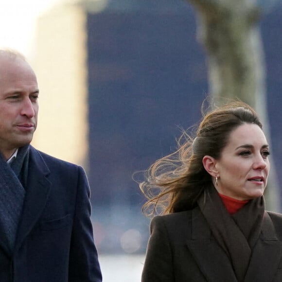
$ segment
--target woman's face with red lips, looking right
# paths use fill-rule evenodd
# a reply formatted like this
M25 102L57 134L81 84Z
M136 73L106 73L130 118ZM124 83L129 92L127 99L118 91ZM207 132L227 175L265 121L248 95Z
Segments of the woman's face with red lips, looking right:
M215 160L220 194L247 200L264 193L269 172L269 148L261 128L245 123L231 131L229 141Z

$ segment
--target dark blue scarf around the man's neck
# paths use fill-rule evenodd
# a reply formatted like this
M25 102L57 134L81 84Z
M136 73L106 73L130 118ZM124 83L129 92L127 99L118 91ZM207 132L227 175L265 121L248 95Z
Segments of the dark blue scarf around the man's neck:
M28 175L29 145L18 149L11 166L0 155L0 228L14 249Z

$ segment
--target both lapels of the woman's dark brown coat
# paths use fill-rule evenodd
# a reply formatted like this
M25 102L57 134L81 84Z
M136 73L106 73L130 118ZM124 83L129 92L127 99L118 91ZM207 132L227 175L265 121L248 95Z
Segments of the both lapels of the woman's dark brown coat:
M187 246L208 282L237 282L228 255L213 238L198 208L192 214L192 237L187 241ZM245 282L271 282L281 256L282 242L278 241L273 223L265 212L262 232L252 250Z

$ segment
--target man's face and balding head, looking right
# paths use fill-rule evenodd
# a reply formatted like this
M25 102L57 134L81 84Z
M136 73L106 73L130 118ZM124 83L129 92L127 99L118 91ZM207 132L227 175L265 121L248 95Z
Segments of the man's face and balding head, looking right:
M29 144L37 125L38 86L21 58L0 57L0 152L6 159Z

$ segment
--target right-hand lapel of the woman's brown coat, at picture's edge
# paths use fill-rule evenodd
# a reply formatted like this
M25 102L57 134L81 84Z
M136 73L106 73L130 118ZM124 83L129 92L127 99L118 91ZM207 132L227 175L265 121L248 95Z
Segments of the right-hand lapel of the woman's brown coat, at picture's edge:
M270 216L264 212L262 233L252 250L252 256L245 277L246 282L271 282L277 272L282 256L282 242L275 234Z

